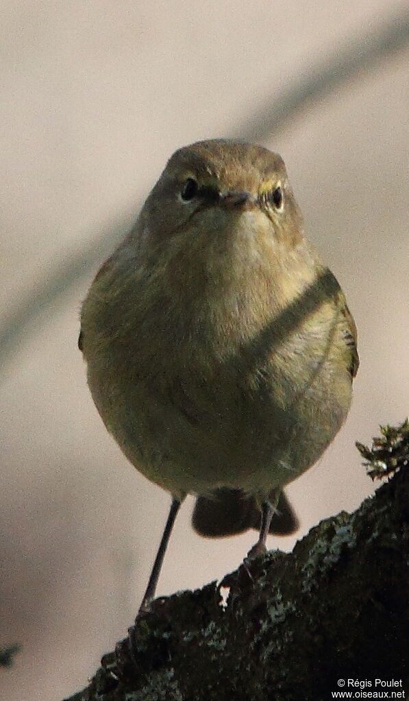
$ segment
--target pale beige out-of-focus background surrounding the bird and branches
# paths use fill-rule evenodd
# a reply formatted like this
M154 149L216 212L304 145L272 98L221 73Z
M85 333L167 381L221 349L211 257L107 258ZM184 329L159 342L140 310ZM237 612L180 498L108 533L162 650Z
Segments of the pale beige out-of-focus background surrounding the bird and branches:
M125 232L176 147L240 135L271 96L402 8L388 0L4 0L2 313L100 231L111 229L113 240L120 226ZM373 490L354 440L369 441L378 423L408 412L407 82L402 52L263 140L286 160L310 238L344 287L360 335L347 424L289 489L297 537ZM132 622L168 508L92 405L76 348L91 277L85 271L29 325L0 389L0 644L24 646L13 669L0 669L4 701L60 699L86 683ZM254 540L204 540L190 529L190 508L176 524L160 594L221 577Z

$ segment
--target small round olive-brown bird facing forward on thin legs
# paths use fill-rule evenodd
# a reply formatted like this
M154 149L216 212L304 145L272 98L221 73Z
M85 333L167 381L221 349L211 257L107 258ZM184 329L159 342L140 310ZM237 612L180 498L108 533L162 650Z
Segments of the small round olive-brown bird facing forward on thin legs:
M338 432L359 360L280 156L227 139L176 151L97 273L78 343L106 428L172 495L141 610L186 494L204 535L259 527L253 554L296 526L282 487Z

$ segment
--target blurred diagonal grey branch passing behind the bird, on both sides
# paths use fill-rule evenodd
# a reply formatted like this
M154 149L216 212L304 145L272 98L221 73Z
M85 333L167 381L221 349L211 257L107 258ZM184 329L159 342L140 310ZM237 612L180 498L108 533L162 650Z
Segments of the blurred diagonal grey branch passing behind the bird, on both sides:
M338 46L333 56L317 65L309 73L297 78L282 94L266 98L254 110L242 128L232 134L249 141L263 141L276 134L300 113L335 93L363 72L376 67L403 50L409 42L409 13L402 12L382 22L376 32L363 34L347 46ZM0 365L6 365L36 320L50 305L64 297L71 287L82 280L109 254L123 236L124 227L118 224L105 230L83 247L67 255L41 283L17 304L10 304L0 324Z

